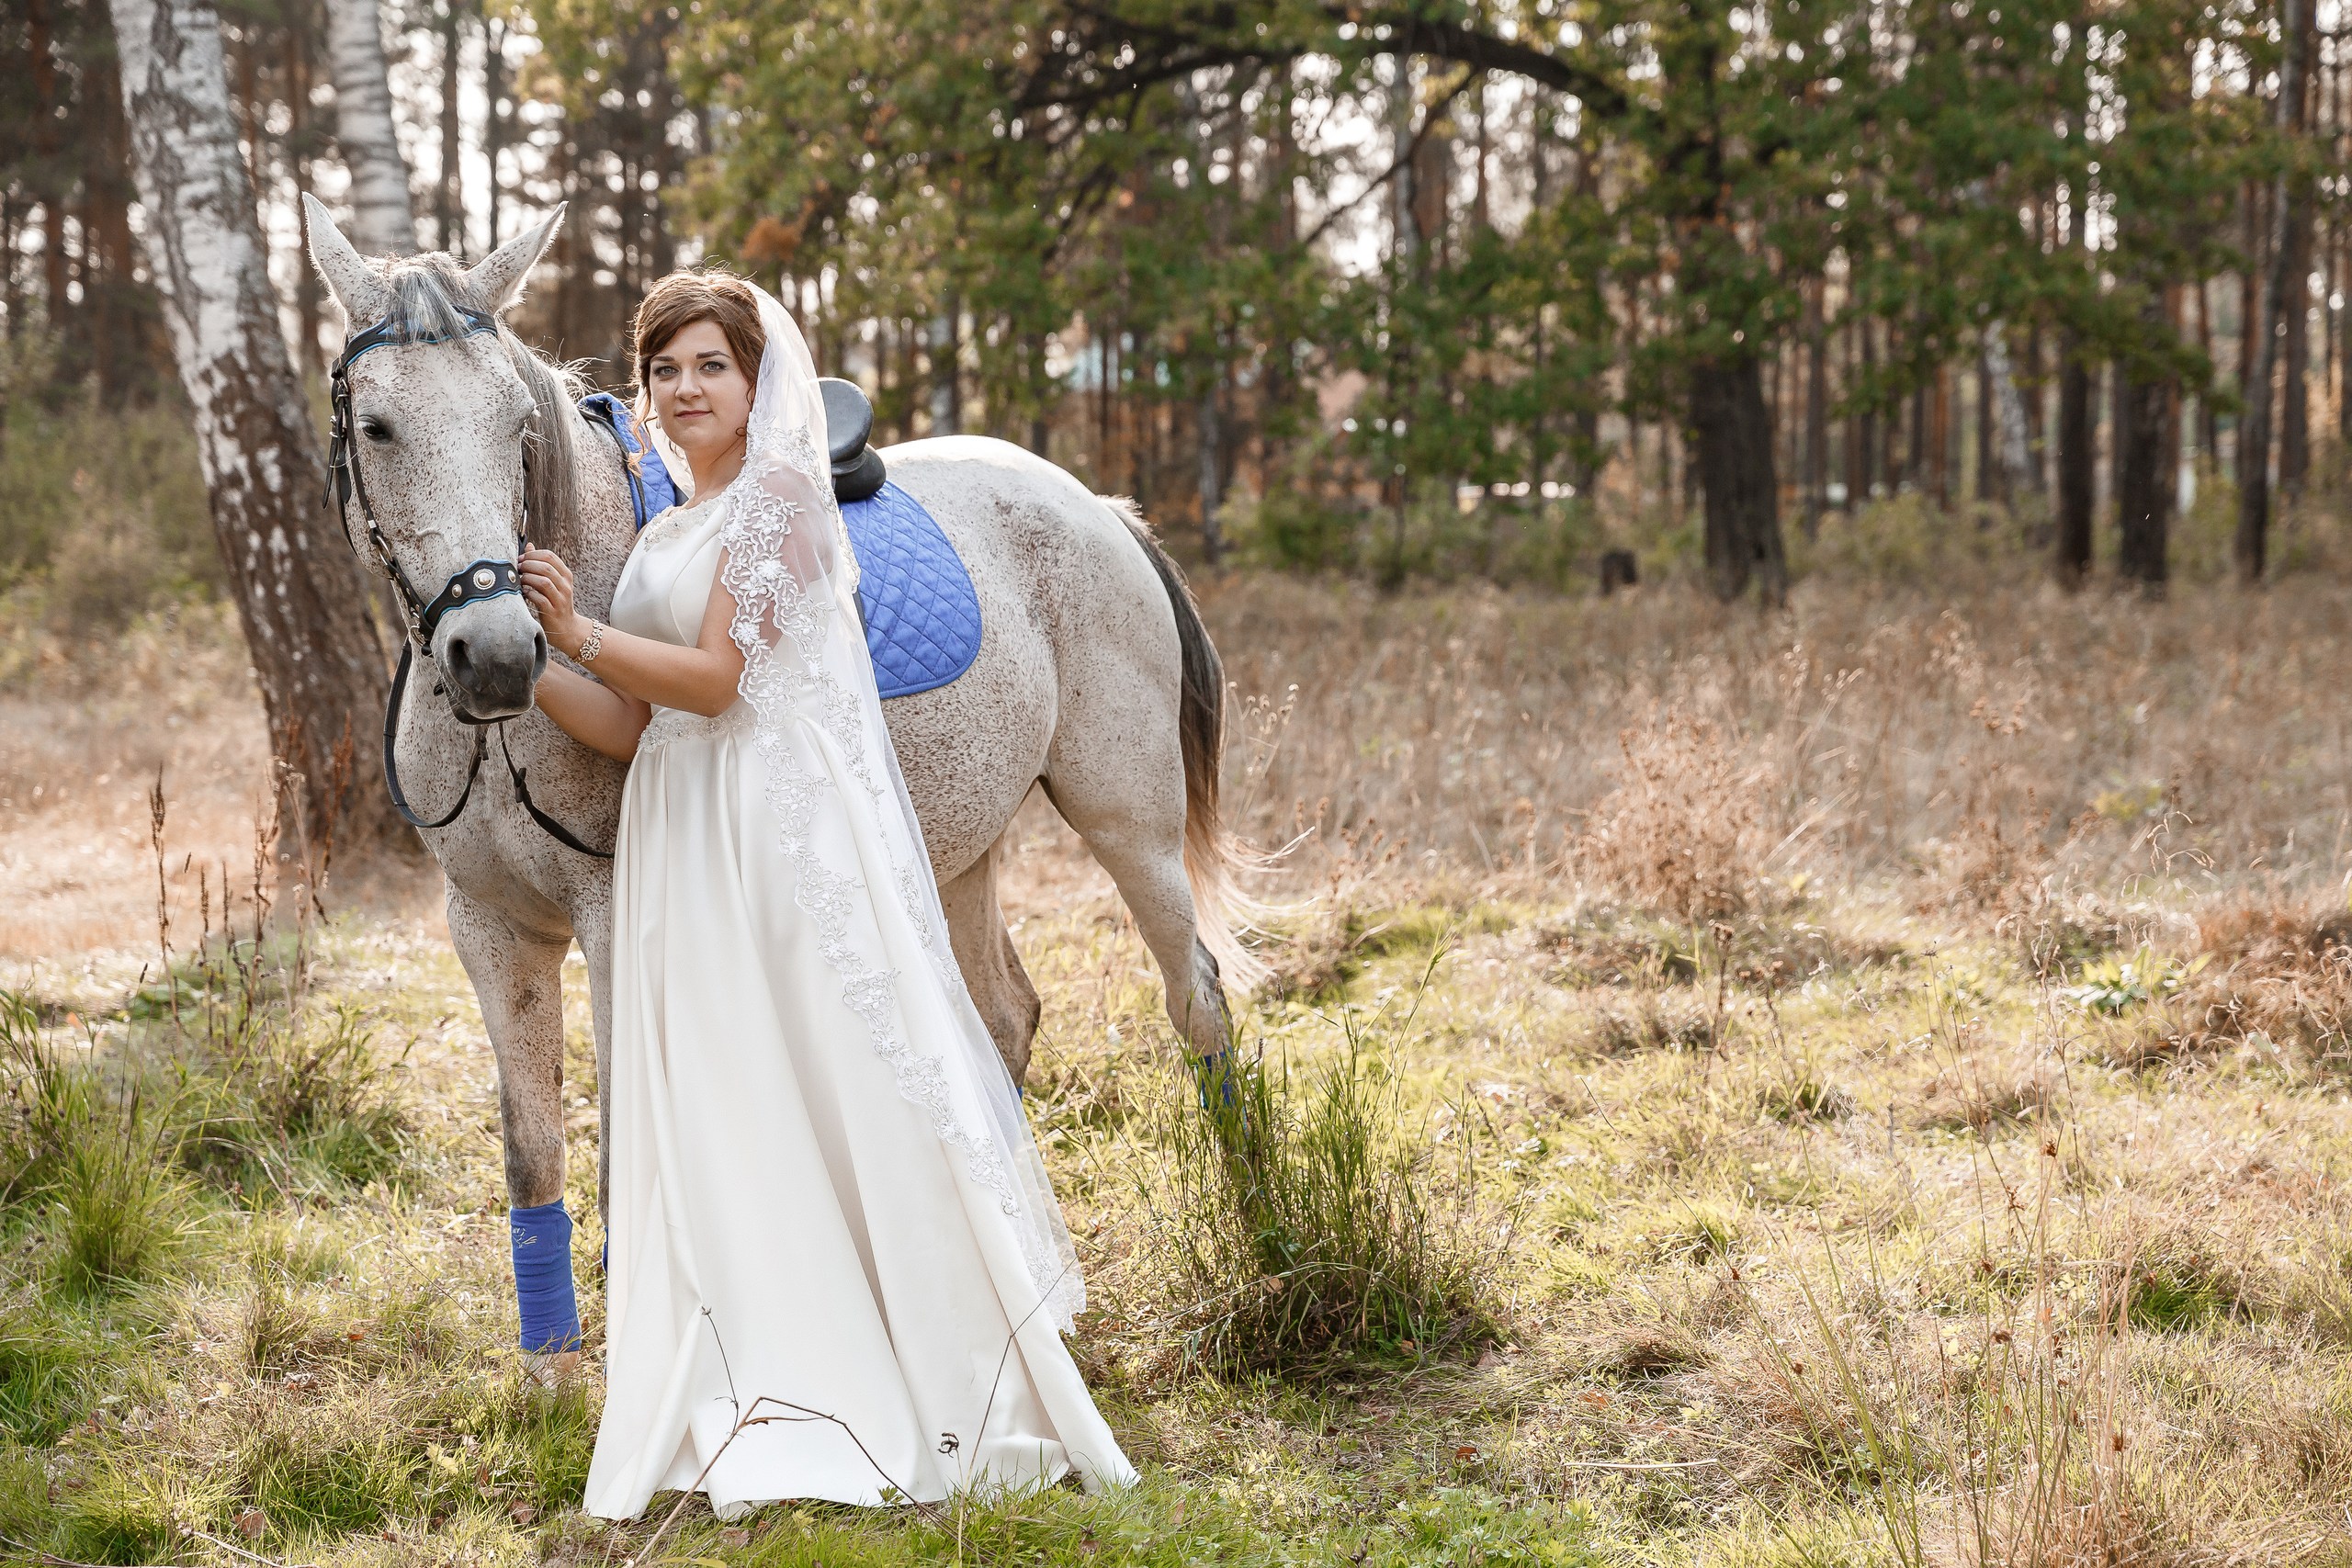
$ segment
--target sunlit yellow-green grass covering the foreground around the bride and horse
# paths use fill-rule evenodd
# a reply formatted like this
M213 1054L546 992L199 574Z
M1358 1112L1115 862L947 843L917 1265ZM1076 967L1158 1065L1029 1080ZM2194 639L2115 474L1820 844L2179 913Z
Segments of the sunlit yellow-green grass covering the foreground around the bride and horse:
M659 1559L2352 1561L2328 1074L2122 1072L2140 1020L2067 1004L2016 933L1877 905L1703 931L1691 973L1613 961L1663 931L1637 912L1416 891L1362 905L1371 931L1244 1009L1221 1117L1108 907L1023 931L1030 1114L1094 1298L1075 1352L1138 1488L689 1507ZM40 1027L61 1006L9 1013L0 1535L85 1563L628 1561L652 1521L579 1514L597 1380L550 1396L510 1349L496 1084L454 959L367 922L320 959L247 1051L169 1006L89 1041ZM71 1265L73 1161L127 1126L155 1192L82 1208L165 1239ZM586 1112L572 1171L593 1213ZM595 1246L583 1225L590 1347Z

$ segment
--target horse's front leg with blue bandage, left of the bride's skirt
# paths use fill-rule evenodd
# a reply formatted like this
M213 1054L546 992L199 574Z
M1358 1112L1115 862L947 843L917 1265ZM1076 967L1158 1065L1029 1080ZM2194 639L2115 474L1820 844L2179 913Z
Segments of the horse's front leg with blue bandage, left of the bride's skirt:
M508 1229L522 1349L541 1382L579 1366L572 1215L564 1211L564 952L449 886L449 940L499 1058Z

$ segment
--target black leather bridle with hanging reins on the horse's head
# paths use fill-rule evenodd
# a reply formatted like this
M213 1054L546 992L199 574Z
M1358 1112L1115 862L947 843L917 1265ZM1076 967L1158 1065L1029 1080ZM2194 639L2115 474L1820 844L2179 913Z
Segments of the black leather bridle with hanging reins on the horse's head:
M390 581L393 592L400 597L400 614L407 621L407 635L400 642L400 668L393 672L393 691L383 703L383 788L393 797L393 811L400 813L409 827L447 827L466 811L466 802L473 799L473 780L482 776L482 757L489 755L489 726L499 729L499 757L506 762L506 773L515 783L515 804L522 806L548 837L553 837L564 849L576 849L583 856L595 856L597 860L612 860L609 849L590 849L572 830L557 823L553 816L539 809L532 799L529 783L524 778L527 769L515 766L515 752L506 743L506 719L475 719L463 712L456 703L449 705L452 717L461 724L473 726L473 762L466 766L466 788L459 790L456 804L449 806L447 816L426 820L416 816L409 806L407 792L400 788L400 764L395 762L395 743L400 736L400 705L409 689L409 665L416 654L423 651L433 658L433 630L440 625L442 616L452 609L463 609L466 604L480 604L482 599L503 599L506 595L522 595L522 574L515 562L501 559L477 559L459 567L449 574L449 581L428 599L416 592L416 583L400 567L400 557L393 555L390 541L383 538L383 529L376 527L376 508L367 501L367 480L360 475L360 449L355 442L355 430L350 421L350 362L372 348L397 348L407 343L454 343L459 339L470 339L477 334L496 334L499 320L487 310L473 310L470 306L454 306L459 320L463 322L456 334L440 331L414 331L407 324L386 317L374 327L353 334L343 343L341 357L336 357L334 369L327 374L327 400L332 409L329 444L327 444L327 498L334 503L336 515L343 522L343 538L350 541L353 552L360 550L360 541L350 531L350 503L360 503L360 522L367 529L367 543L376 552L376 564L383 569L386 581ZM522 508L515 517L515 555L532 545L532 454L529 447L522 451ZM365 559L365 557L362 557ZM447 682L447 677L445 677ZM447 689L447 684L442 686Z

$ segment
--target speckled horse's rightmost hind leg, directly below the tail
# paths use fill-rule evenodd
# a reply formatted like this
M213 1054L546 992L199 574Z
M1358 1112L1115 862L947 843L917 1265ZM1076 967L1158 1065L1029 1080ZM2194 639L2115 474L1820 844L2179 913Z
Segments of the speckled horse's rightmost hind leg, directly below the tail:
M1216 959L1200 943L1200 912L1183 872L1183 757L1176 712L1148 724L1134 715L1063 717L1044 788L1120 886L1143 945L1167 983L1169 1023L1195 1060L1221 1058L1232 1044L1232 1016ZM1164 755L1162 755L1164 752Z

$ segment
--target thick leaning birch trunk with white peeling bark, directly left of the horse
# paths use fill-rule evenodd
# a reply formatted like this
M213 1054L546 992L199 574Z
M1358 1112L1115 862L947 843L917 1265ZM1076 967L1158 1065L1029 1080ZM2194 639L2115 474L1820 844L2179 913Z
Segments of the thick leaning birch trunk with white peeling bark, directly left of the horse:
M376 788L383 649L348 543L320 505L325 463L278 329L209 0L113 0L143 244L195 411L212 529L280 759L280 844L315 856L397 832ZM336 766L341 745L348 771ZM341 776L339 776L341 773Z

